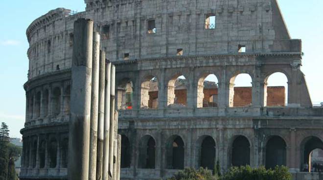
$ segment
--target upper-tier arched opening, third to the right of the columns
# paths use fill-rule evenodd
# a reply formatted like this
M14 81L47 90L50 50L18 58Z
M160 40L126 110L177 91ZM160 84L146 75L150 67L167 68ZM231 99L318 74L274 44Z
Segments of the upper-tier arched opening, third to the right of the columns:
M183 75L176 76L171 79L168 82L167 106L174 104L179 106L186 106L187 86L188 82Z

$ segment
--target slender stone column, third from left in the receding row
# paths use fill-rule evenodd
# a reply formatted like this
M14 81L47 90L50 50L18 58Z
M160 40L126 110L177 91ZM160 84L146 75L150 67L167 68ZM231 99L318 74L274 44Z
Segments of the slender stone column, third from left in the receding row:
M100 51L99 63L99 107L97 129L96 180L102 180L103 138L104 138L104 99L105 99L105 52Z

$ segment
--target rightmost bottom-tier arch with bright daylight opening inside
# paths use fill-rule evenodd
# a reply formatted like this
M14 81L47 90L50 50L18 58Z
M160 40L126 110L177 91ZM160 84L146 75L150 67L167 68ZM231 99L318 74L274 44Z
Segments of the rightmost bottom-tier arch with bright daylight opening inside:
M302 164L301 171L313 172L318 170L318 164L322 163L323 142L320 138L310 136L301 143ZM305 167L308 165L308 168Z

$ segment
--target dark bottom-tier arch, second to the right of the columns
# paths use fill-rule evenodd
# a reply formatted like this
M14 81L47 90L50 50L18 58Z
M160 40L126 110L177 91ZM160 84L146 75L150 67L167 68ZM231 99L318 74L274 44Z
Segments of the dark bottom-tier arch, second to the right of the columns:
M138 167L143 169L155 169L156 141L150 135L145 135L139 143Z

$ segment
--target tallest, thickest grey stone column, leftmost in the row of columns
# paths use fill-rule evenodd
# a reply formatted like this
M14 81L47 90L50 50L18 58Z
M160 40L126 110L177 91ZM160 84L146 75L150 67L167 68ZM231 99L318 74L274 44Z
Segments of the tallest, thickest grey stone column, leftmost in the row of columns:
M69 120L69 180L89 179L93 21L74 22Z

